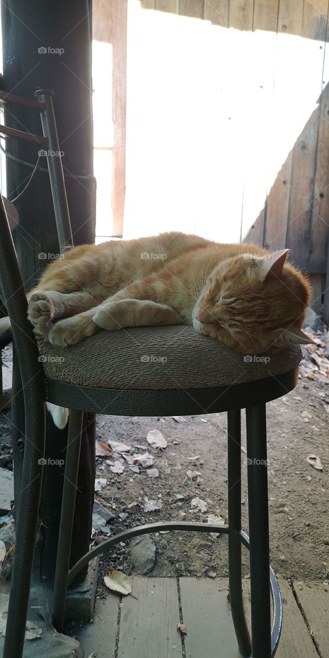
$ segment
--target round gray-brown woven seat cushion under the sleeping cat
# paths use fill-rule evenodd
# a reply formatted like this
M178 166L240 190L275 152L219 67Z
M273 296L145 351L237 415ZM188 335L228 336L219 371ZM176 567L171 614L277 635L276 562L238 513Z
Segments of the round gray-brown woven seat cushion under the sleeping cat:
M282 374L301 360L297 345L245 360L188 326L100 331L71 347L39 343L39 351L47 377L110 389L229 386Z

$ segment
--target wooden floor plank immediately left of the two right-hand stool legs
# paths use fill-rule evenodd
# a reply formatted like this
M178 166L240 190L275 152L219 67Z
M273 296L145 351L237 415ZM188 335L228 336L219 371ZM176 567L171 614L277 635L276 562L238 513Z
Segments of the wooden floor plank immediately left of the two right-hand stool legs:
M189 658L241 658L227 599L227 578L180 578L183 622Z

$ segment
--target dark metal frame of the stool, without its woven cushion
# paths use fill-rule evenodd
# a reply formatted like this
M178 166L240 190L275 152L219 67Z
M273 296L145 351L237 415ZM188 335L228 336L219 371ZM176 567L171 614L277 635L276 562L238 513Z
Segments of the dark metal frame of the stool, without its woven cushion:
M0 97L3 97L3 95ZM17 97L11 97L15 102ZM39 101L28 101L41 112L43 141L49 151L58 152L59 143L53 114L51 92L39 91ZM20 99L16 102L22 102ZM31 103L33 105L31 105ZM41 110L40 110L41 103ZM5 132L21 137L6 128ZM10 132L9 132L10 131ZM13 134L13 132L15 134ZM32 136L36 137L36 136ZM72 245L72 232L64 187L61 158L47 157L51 191L61 249ZM0 195L1 196L1 195ZM16 549L9 599L9 612L3 658L21 658L28 611L30 578L38 525L42 463L45 446L45 401L69 407L68 444L53 592L53 625L63 632L66 589L80 570L96 555L118 542L149 532L180 530L228 534L228 572L230 604L241 655L249 658L274 656L282 626L282 599L278 582L269 563L268 489L266 457L267 401L292 390L298 381L297 368L263 380L233 386L178 390L110 390L55 382L45 378L38 361L38 345L32 325L26 318L27 301L18 267L3 199L0 198L0 282L2 297L11 318L13 340L22 376L25 402L25 452L22 474L24 505L16 519ZM111 335L110 340L115 340ZM120 393L120 395L118 395ZM200 407L207 413L228 414L228 524L159 522L120 532L84 555L69 569L76 482L80 456L82 415L99 413L102 403L113 403L113 415L197 415ZM241 529L241 409L246 410L247 480L250 539ZM241 545L249 548L251 588L251 639L242 603ZM202 584L201 584L202 586ZM271 625L270 597L273 619ZM252 649L251 649L252 647ZM209 658L216 658L209 657Z

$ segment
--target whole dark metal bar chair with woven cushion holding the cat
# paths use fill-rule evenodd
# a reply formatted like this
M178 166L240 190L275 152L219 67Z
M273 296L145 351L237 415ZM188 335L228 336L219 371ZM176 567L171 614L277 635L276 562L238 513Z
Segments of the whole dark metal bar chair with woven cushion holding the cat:
M49 104L51 97L46 98L43 93L41 102ZM55 122L49 124L49 114L47 116L48 118L45 114L43 116L43 129L48 135L46 139L49 139L49 135L53 134ZM59 151L57 144L51 148L53 151ZM50 174L52 167L61 168L60 159L55 160L56 163L49 161ZM57 181L57 186L52 185L52 190L55 210L57 208L60 245L63 248L70 244L72 234L65 204L63 172L57 171L55 178L57 176L61 181L60 186ZM37 345L32 325L26 318L26 296L2 199L0 211L0 284L3 301L11 318L26 408L26 447L22 476L22 490L26 493L24 506L21 505L19 518L16 519L16 550L3 658L20 658L24 644L43 468L40 457L44 454L45 443L45 401L69 407L71 410L53 592L55 628L63 631L66 588L82 567L99 553L118 542L159 530L218 532L228 534L230 603L240 652L243 656L252 658L270 658L276 652L280 639L282 601L278 582L269 563L265 405L267 401L285 395L296 386L301 359L299 347L290 347L278 355L271 355L270 367L262 361L253 363L250 370L246 370L243 355L238 355L205 336L195 334L191 328L184 328L184 340L179 342L176 339L183 336L180 333L182 327L161 327L111 334L102 331L70 348L60 348L50 343ZM132 340L139 345L138 348L134 346L137 368L134 388L128 381L126 386L124 385L125 367L128 367L132 356ZM150 353L155 344L162 345L162 348L172 353L175 358L168 367L168 377L152 384L145 370L138 368L141 368L141 355ZM104 357L104 350L107 351L107 358ZM40 355L63 355L64 367L58 369L59 359L45 359L41 363L38 360ZM86 361L91 361L93 365L88 370L88 376L82 367L82 363ZM105 368L107 361L112 363L109 373ZM213 372L211 382L209 370ZM100 372L100 378L97 380L91 371ZM191 384L188 376L190 371L195 374L196 386ZM116 377L113 372L120 373L120 376ZM140 526L105 540L69 569L82 413L109 413L109 407L113 415L139 416L197 415L226 411L228 525L161 522ZM247 418L250 538L241 530L241 409L246 409ZM250 551L251 640L243 613L241 544ZM273 603L272 622L270 595Z

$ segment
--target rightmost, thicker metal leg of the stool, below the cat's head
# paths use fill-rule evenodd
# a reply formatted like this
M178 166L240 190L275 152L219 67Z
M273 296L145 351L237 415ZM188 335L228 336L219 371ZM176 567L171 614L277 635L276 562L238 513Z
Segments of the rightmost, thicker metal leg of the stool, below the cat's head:
M265 404L249 407L247 417L247 472L253 658L270 658L270 555Z

